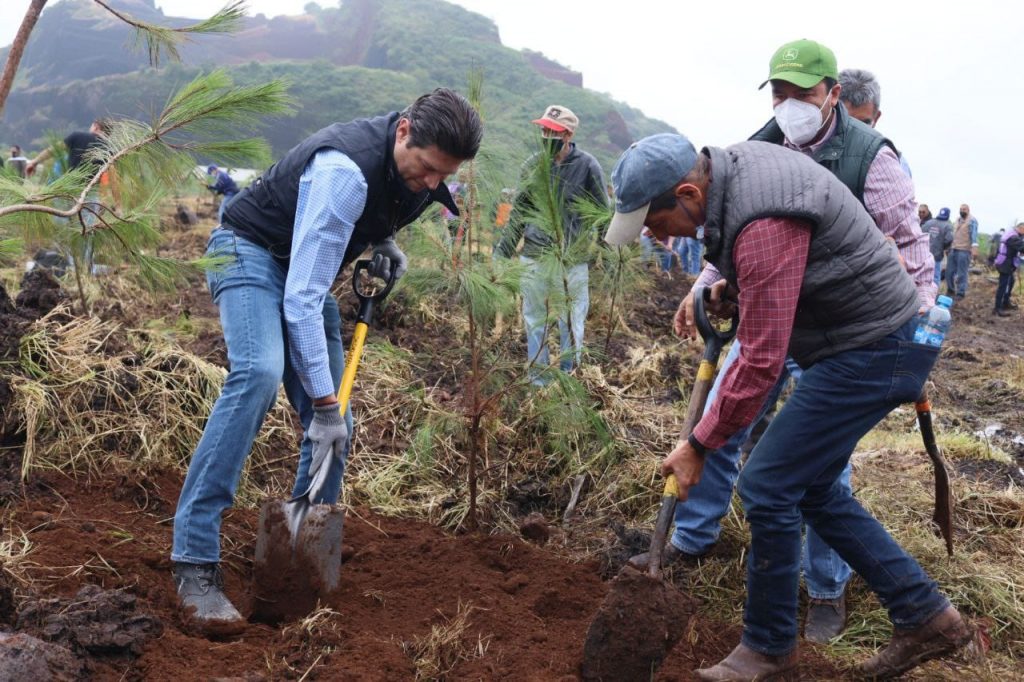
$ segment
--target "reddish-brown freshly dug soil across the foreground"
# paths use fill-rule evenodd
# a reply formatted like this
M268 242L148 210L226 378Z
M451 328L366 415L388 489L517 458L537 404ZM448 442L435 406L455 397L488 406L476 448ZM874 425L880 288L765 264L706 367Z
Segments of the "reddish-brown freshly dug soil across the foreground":
M153 634L156 620L163 624L162 635L133 640L134 648L131 642L104 647L93 645L102 640L62 635L58 641L78 647L96 680L279 680L307 671L307 680L412 680L412 652L432 632L451 628L460 609L468 612L465 629L440 647L451 654L449 679L577 679L587 630L608 593L596 561L569 563L517 537L453 536L356 508L344 531L353 555L342 565L337 595L324 604L333 613L317 611L279 627L254 623L237 638L212 641L190 634L176 608L168 554L169 510L181 485L177 474L125 478L111 472L91 481L56 475L44 481L47 494L8 508L12 523L34 528L27 570L32 590L45 593L23 597L18 613L34 599L55 606L75 603L75 595L121 595L102 598L122 605L96 620L101 632ZM138 486L147 491L145 499L118 494ZM50 515L45 523L39 522L41 511ZM240 607L251 586L256 528L256 510L224 516L226 591ZM85 586L98 587L80 593ZM100 588L115 592L91 592ZM117 601L125 596L134 597L132 608ZM46 601L56 598L63 600ZM82 615L91 607L68 612L71 620L61 622L68 633L81 632L75 628L89 623ZM54 609L45 612L44 623ZM154 621L140 630L143 615ZM110 630L114 624L120 625ZM693 679L692 670L724 657L738 637L737 629L695 614L654 679ZM803 670L807 679L841 677L813 649L805 650Z

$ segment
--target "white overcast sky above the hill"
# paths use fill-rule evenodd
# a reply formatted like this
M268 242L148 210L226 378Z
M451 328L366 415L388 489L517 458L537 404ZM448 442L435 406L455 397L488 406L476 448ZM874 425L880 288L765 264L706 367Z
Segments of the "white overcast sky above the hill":
M274 15L301 13L307 1L248 4L251 13ZM0 45L10 43L28 4L0 2ZM337 6L334 0L319 4ZM1024 219L1024 40L1016 3L457 4L493 18L506 45L544 52L583 72L588 88L666 121L698 146L729 144L757 130L771 116L771 96L757 86L767 77L772 52L798 38L817 40L836 52L840 69L878 76L878 127L909 162L919 201L933 213L948 206L953 215L968 203L983 232ZM217 3L157 5L169 15L200 17Z

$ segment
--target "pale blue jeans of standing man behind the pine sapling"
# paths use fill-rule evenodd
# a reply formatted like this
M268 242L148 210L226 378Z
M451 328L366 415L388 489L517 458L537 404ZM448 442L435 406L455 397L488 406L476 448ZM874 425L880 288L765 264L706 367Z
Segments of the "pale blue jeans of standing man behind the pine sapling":
M583 334L590 309L590 267L583 263L568 269L568 300L560 273L545 273L532 258L519 256L526 266L522 274L522 321L526 328L526 361L534 383L544 383L543 373L551 363L548 354L548 331L558 321L562 372L572 370L583 355ZM569 334L571 317L571 336ZM573 350L570 350L573 349Z

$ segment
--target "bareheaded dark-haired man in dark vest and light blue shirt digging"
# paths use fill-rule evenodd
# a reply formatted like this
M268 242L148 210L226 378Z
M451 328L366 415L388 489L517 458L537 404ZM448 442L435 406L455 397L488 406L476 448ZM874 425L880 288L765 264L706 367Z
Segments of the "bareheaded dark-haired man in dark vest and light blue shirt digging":
M337 400L344 348L330 287L370 246L381 257L375 273L393 266L400 276L407 260L395 232L432 202L458 213L443 180L476 156L481 135L469 102L439 88L401 113L312 134L227 206L207 254L233 258L208 272L207 284L230 371L188 466L171 553L179 603L196 630L245 627L223 593L220 515L282 382L305 430L294 495L337 501L352 418Z

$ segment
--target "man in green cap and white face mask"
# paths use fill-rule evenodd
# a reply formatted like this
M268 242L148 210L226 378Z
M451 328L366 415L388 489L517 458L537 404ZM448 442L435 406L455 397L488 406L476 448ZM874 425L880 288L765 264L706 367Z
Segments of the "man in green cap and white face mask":
M842 87L838 81L836 55L826 46L798 40L779 47L769 62L768 79L761 84L762 88L771 85L775 116L751 139L801 152L831 171L860 201L882 233L895 242L913 281L920 309L927 310L935 304L935 261L929 238L921 231L913 181L901 170L895 145L852 118L840 103ZM709 264L695 286L712 286L721 280L719 271ZM680 303L675 328L680 336L696 338L691 295ZM718 394L727 370L741 354L745 357L742 344L734 343L709 404ZM707 554L718 541L721 519L729 510L739 475L740 450L765 413L777 402L791 373L799 378L799 370L787 361L761 413L714 457L709 456L701 482L690 491L689 500L676 506L676 529L666 548L666 561L692 561ZM850 488L850 473L847 466L839 479L846 489ZM645 560L645 555L639 555L631 562L643 565ZM811 528L806 535L803 569L810 597L804 637L826 642L845 628L844 595L851 570Z

